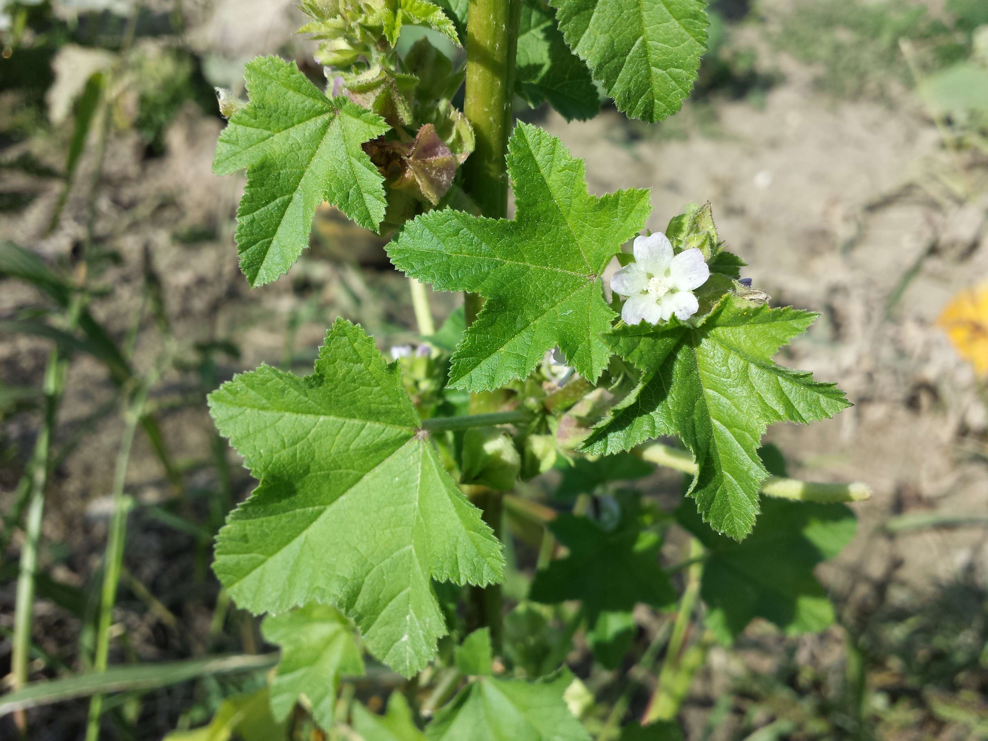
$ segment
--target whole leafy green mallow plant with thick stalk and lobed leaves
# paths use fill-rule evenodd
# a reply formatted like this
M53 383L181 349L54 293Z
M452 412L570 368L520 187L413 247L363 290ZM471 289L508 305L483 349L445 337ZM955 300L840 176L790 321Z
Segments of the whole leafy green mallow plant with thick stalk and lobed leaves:
M285 275L329 202L390 235L420 338L386 359L340 318L311 375L262 366L209 397L258 479L213 569L282 647L270 711L338 738L421 738L424 723L443 740L666 738L709 645L755 617L788 633L833 620L813 567L854 534L841 502L861 490L786 479L760 445L772 423L849 402L773 361L815 315L740 279L712 206L646 235L650 192L589 194L584 163L516 124L513 101L567 120L596 116L602 94L631 118L675 114L705 48L704 2L301 7L325 80L259 57L249 100L221 96L214 170L247 171L241 268L253 287ZM431 32L399 45L413 26ZM426 284L463 293L439 330ZM675 512L635 487L655 463L686 474ZM671 528L690 550L663 565ZM607 720L565 658L582 631L604 667L630 655L652 671L637 605L676 627L643 715ZM686 629L694 619L702 630ZM405 678L384 716L339 694L368 662Z

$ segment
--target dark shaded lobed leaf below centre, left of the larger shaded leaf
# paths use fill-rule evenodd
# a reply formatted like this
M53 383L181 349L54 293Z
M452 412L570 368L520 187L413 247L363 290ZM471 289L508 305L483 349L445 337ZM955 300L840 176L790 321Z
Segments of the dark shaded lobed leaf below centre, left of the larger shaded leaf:
M609 532L589 518L561 514L549 528L570 552L535 572L529 599L581 600L592 628L601 613L630 611L639 602L658 608L676 600L659 566L659 536L639 530L633 518L624 517Z

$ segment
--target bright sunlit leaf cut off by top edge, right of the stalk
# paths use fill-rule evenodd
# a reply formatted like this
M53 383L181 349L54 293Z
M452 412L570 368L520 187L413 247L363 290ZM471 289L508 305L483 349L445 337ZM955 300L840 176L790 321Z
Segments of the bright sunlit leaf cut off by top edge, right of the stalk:
M672 116L706 49L705 0L549 0L569 47L632 119Z

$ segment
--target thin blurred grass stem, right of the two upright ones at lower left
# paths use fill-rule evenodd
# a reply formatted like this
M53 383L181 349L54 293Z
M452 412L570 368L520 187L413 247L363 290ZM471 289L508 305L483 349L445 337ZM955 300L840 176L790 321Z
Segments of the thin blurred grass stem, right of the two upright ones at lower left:
M120 584L124 566L124 542L126 540L126 518L130 509L130 500L124 496L126 471L130 462L130 449L144 414L144 403L147 392L157 380L161 370L166 365L164 357L150 371L147 378L137 387L130 403L124 412L124 434L121 436L121 447L117 453L117 468L114 471L114 514L110 521L110 533L107 538L107 549L103 557L103 590L100 597L100 621L97 628L96 656L93 661L94 672L105 672L110 655L110 623L113 618L114 606L117 604L117 587ZM94 695L89 703L89 720L86 725L86 741L96 741L100 735L100 715L103 712L103 696Z

